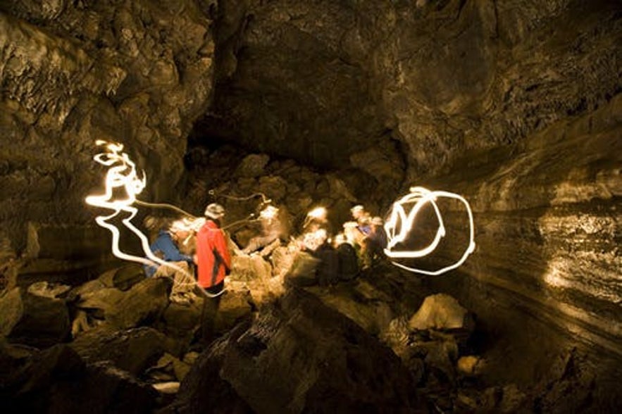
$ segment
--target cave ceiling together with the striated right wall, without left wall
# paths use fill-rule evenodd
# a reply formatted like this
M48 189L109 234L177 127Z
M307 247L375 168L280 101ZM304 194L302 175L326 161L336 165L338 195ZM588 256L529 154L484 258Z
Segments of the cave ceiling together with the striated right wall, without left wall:
M550 356L544 342L622 356L621 4L222 4L206 132L466 196L478 247L430 286L492 332L533 318L541 334L514 335L533 341L525 356ZM561 337L539 349L547 330Z

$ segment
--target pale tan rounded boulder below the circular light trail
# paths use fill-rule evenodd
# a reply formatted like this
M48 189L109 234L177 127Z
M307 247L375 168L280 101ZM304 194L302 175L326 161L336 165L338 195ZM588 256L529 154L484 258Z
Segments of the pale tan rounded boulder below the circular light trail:
M424 299L421 308L409 320L409 327L412 330L459 329L464 327L467 315L468 311L452 296L435 294Z

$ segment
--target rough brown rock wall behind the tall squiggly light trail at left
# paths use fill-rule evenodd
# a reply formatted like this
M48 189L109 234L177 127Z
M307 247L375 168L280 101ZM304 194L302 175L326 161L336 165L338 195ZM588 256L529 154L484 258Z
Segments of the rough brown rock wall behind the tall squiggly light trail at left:
M210 24L189 0L3 2L0 223L13 249L26 222L102 213L83 201L103 192L96 139L126 145L145 201L178 197L187 133L212 90Z

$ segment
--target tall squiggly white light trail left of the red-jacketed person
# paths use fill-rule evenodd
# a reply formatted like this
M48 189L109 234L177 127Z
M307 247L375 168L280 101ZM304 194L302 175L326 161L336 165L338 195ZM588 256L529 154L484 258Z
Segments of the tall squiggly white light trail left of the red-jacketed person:
M133 261L149 266L163 265L177 270L178 272L182 272L185 276L189 277L190 280L194 280L194 275L189 274L189 272L185 269L180 268L174 263L163 261L161 258L154 255L149 248L149 239L147 236L145 236L137 227L135 227L135 225L132 224L132 218L135 218L138 213L138 209L132 206L132 204L137 202L137 194L140 194L140 192L142 192L144 187L147 185L147 179L144 176L144 171L141 174L142 177L139 177L135 163L130 160L127 153L123 152L123 144L106 142L101 139L98 139L95 144L98 146L104 146L106 149L104 153L98 153L93 157L94 161L108 167L108 171L106 172L104 194L89 195L86 197L85 201L90 206L106 208L112 211L110 215L99 215L95 218L95 222L97 222L98 225L110 230L112 234L112 253L116 257L126 261ZM116 192L114 191L115 189L117 189ZM125 192L125 198L118 198L118 194L116 193L121 191ZM128 230L138 237L142 251L147 258L124 253L119 248L120 231L116 225L109 222L109 220L112 220L122 214L127 214L127 217L121 219L121 222L123 222L123 225L125 225ZM186 286L189 284L196 285L197 282L194 281L184 283L182 285ZM221 291L219 294L209 294L204 291L204 289L200 290L208 297L219 296L224 291Z

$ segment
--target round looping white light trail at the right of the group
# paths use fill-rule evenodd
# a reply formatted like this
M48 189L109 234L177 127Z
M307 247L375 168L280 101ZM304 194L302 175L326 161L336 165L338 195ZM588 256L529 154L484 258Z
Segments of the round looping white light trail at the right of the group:
M464 197L459 196L458 194L443 191L430 191L423 187L411 187L410 191L410 194L406 194L406 196L403 196L401 199L393 203L390 218L389 220L387 220L387 222L385 222L385 232L387 232L388 239L387 248L385 249L385 255L389 258L421 258L423 256L428 256L428 254L435 251L438 244L440 244L440 240L446 234L442 215L436 201L438 198L442 197L456 199L461 201L461 203L463 203L466 207L469 222L469 242L461 258L456 261L456 263L453 263L452 265L435 271L411 268L409 266L402 265L402 263L397 263L394 261L392 263L399 268L410 270L411 272L422 273L423 275L440 275L449 270L458 268L462 263L464 263L464 261L466 261L468 255L473 253L473 251L475 250L475 242L473 240L475 236L473 213L471 211L471 206L469 206L468 204L468 201L466 201ZM434 208L434 212L438 220L438 228L433 241L430 242L428 246L423 247L423 249L410 251L394 250L394 247L397 246L397 244L403 243L406 241L406 239L408 239L409 234L413 229L415 218L421 211L421 208L423 208L428 203L430 203ZM411 204L414 204L414 206L411 208L409 213L406 214L404 206L409 206Z

